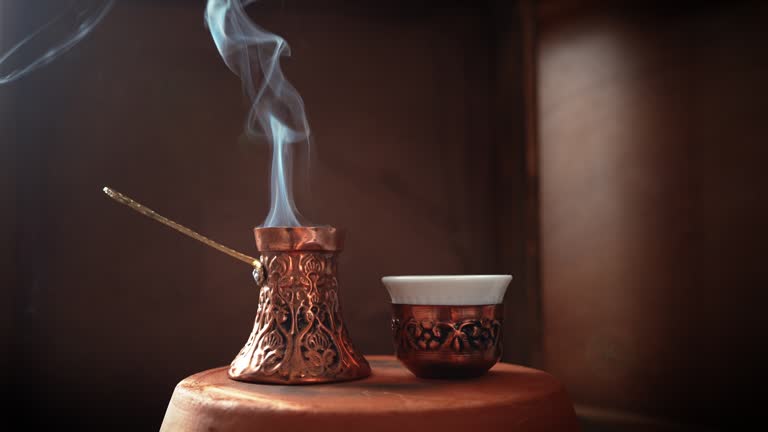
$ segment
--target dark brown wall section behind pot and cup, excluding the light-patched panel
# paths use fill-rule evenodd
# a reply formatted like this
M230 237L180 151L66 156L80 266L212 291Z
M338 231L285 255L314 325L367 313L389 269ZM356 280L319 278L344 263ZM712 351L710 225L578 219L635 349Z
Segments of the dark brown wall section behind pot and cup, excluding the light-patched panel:
M298 207L348 230L357 347L392 352L381 276L512 273L505 355L525 361L514 5L272 3L252 15L291 44L284 70L314 132ZM247 266L101 193L255 253L270 150L240 137L247 103L203 5L118 2L72 51L0 87L2 369L28 419L156 429L176 382L229 363L251 330ZM3 46L46 11L3 2Z

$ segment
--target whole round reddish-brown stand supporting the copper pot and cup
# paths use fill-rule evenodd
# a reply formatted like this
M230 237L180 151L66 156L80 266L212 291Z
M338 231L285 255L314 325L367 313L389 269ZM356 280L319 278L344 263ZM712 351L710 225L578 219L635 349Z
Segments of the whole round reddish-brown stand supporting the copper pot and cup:
M551 375L507 363L465 380L416 378L392 356L366 357L366 379L302 386L232 381L227 368L181 381L165 412L170 431L577 431Z

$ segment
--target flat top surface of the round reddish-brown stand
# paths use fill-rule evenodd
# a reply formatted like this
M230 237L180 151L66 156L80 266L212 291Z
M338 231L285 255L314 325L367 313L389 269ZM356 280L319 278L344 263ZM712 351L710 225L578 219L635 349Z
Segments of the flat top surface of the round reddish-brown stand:
M564 393L551 375L507 363L464 380L421 379L393 356L367 356L370 377L313 385L251 384L233 381L227 368L211 369L179 383L176 392L238 409L272 412L385 414L451 411L490 406L525 406Z

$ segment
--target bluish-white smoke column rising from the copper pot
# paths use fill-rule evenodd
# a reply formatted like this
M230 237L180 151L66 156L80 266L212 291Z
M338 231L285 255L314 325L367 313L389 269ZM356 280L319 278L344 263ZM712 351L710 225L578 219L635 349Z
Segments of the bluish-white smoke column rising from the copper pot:
M205 22L221 57L251 99L246 132L272 143L272 198L262 226L300 226L290 170L293 145L309 140L309 124L301 96L280 69L280 57L290 55L288 44L245 13L255 1L208 0Z

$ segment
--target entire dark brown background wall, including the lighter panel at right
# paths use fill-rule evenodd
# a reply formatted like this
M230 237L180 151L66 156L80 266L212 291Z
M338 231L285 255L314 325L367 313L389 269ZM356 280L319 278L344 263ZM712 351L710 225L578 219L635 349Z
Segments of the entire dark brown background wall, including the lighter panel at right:
M1 2L7 47L62 2ZM157 429L252 326L270 151L204 2L125 0L0 87L4 382L28 420ZM519 11L519 12L518 12ZM760 2L266 2L314 143L307 218L348 230L345 321L389 353L387 274L512 273L505 360L586 430L727 429L760 388L768 75Z

